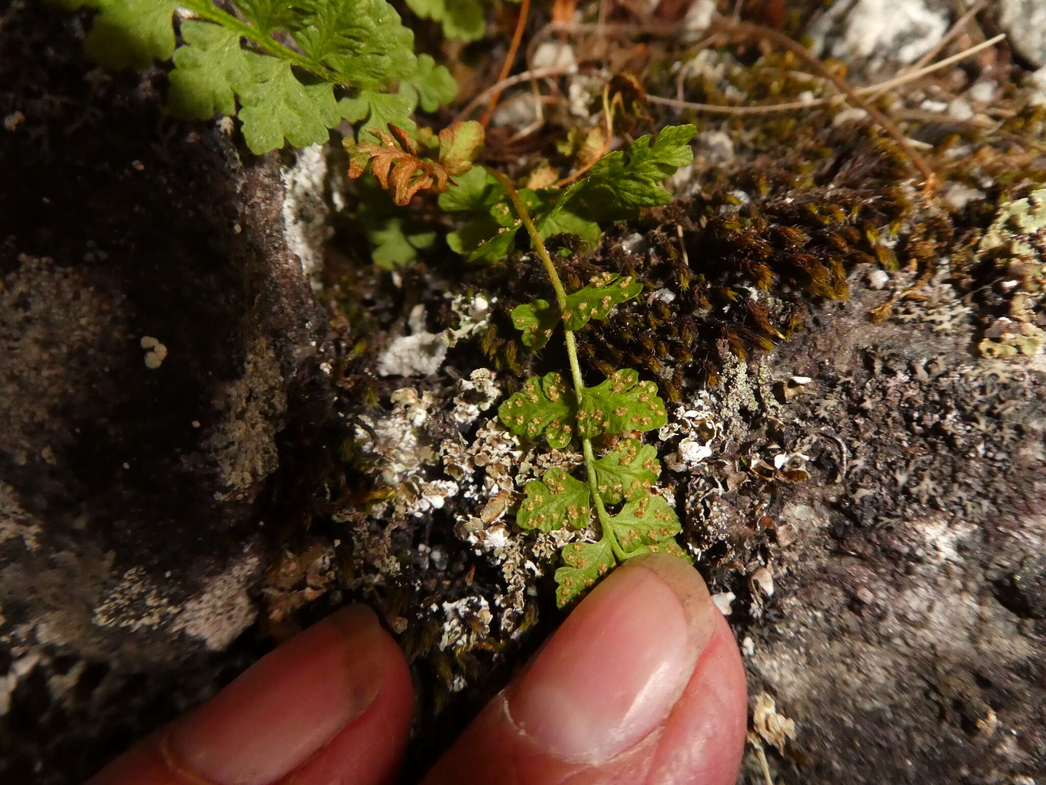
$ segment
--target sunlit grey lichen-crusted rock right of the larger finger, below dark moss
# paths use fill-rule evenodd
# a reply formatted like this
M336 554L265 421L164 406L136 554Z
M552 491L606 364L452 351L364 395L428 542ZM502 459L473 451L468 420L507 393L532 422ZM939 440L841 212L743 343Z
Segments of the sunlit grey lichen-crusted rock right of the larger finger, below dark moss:
M869 300L775 362L814 379L776 416L811 476L768 521L773 598L742 597L749 691L795 721L775 781L1034 781L1046 373L972 360L969 321L869 326Z

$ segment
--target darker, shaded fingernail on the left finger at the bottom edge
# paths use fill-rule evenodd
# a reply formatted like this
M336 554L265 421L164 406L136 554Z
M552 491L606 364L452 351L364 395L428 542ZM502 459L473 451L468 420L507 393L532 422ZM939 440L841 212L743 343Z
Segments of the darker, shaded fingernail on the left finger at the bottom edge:
M373 702L384 634L364 606L313 625L176 722L164 743L168 762L215 785L285 777Z

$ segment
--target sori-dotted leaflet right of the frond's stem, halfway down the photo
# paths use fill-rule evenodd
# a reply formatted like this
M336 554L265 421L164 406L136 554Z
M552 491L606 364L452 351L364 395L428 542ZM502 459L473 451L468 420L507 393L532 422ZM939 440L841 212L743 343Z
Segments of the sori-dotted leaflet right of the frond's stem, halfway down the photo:
M593 439L600 433L655 430L666 422L657 385L639 382L639 374L628 368L585 389L577 410L577 434Z

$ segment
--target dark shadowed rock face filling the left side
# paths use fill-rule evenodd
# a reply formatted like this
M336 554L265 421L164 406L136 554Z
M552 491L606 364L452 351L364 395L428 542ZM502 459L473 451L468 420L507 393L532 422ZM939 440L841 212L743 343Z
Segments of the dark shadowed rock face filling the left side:
M238 670L277 434L326 405L278 159L164 119L76 24L0 17L4 782L78 781Z

